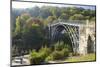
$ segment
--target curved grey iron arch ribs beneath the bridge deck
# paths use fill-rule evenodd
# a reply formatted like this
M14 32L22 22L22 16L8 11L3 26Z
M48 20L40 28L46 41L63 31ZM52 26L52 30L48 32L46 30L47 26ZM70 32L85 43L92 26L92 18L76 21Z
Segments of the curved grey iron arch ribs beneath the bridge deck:
M71 43L72 43L72 48L73 48L73 51L76 53L78 52L78 46L79 46L79 35L76 32L76 29L78 31L78 27L77 26L70 26L70 25L66 25L66 24L56 24L54 26L51 26L51 38L52 40L55 38L55 35L57 34L57 32L62 32L63 30L65 32L67 32L67 34L69 35L69 38L71 40Z

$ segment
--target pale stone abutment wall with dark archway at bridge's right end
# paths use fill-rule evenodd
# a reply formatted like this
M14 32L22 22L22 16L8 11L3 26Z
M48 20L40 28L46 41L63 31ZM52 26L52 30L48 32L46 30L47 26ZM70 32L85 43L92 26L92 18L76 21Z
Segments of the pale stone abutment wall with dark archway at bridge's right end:
M88 24L88 22L79 28L79 54L82 55L95 52L95 24Z

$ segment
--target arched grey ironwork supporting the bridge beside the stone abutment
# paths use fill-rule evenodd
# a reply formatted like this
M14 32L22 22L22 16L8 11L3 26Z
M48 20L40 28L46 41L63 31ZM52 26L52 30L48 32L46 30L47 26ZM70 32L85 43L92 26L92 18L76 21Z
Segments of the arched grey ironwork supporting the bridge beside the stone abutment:
M72 43L72 48L74 52L78 51L79 47L79 25L73 25L73 24L67 24L67 23L55 23L51 24L49 27L49 33L50 33L50 38L51 42L55 38L55 35L57 34L57 28L59 26L62 26L64 30L68 33L71 43Z

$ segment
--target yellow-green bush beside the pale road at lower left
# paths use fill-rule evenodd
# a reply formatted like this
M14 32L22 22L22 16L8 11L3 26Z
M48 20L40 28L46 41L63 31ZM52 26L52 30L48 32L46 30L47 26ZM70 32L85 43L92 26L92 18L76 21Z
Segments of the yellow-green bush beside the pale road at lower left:
M30 52L30 64L41 64L41 62L45 61L45 58L49 56L51 50L49 48L42 47L38 52L32 50Z

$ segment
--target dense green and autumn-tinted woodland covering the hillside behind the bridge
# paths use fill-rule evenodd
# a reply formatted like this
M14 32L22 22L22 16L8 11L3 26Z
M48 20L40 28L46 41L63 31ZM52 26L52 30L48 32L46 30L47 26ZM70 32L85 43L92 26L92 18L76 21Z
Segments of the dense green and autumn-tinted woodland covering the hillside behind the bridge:
M42 45L49 45L50 41L48 37L48 24L57 19L95 20L95 10L78 7L54 6L35 6L28 9L12 9L12 44L16 47L16 52L13 53L17 54L20 51L28 52L32 49L39 50ZM68 50L72 50L70 48L71 43L68 43L68 37L65 37L66 38L62 39L64 43L56 43L57 45L55 44L54 50L62 51L64 47L66 47ZM68 46L67 44L69 44L70 46ZM13 51L14 48L12 48ZM48 52L46 48L43 49L43 53L41 53L41 55L45 54L46 51Z

